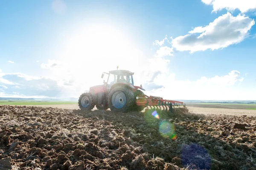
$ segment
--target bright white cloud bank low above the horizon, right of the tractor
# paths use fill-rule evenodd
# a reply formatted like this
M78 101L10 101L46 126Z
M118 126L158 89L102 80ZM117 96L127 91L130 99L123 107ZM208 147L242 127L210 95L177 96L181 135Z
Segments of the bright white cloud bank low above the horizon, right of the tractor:
M256 100L256 89L243 88L243 79L236 70L195 81L179 81L173 75L166 78L163 88L153 89L147 94L169 100Z

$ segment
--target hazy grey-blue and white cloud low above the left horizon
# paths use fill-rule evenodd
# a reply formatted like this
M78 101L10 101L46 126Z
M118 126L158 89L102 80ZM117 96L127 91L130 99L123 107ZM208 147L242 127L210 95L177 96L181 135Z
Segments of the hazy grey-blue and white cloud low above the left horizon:
M18 85L18 86L17 86ZM57 80L45 77L33 77L21 73L0 75L0 87L5 86L4 96L48 96L52 98L77 97L76 85L65 86Z

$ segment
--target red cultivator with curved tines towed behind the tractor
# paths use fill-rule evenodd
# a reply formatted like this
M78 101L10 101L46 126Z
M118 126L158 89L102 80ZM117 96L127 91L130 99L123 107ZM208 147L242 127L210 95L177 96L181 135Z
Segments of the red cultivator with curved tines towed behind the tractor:
M184 104L182 101L165 100L157 96L144 95L143 97L137 96L136 99L137 106L146 107L146 111L149 109L160 109L167 112L172 112L173 108L175 107L180 108L183 106L183 108L186 108L186 104Z

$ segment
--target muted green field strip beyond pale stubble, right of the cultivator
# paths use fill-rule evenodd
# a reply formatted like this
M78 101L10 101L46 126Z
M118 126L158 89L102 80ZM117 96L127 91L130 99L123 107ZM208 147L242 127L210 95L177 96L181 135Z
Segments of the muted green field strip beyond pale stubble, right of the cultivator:
M219 108L219 109L250 109L256 110L256 104L221 104L221 103L186 103L188 107Z

